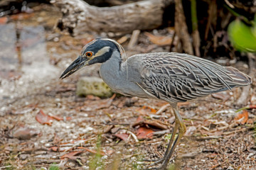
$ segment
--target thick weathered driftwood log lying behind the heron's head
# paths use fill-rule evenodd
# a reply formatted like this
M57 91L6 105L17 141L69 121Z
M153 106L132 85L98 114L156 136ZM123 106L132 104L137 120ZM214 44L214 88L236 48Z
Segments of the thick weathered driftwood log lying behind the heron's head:
M174 0L146 0L112 7L90 6L82 0L55 0L63 13L60 30L73 35L93 32L131 33L133 30L158 28L163 22L164 8Z

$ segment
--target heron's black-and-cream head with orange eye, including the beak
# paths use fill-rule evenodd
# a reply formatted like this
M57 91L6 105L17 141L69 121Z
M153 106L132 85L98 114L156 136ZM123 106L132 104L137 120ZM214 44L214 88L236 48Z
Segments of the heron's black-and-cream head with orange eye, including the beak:
M65 79L65 77L70 76L86 65L106 62L110 59L114 50L118 50L118 52L123 50L122 46L115 40L108 38L92 40L82 48L78 58L65 69L60 79Z

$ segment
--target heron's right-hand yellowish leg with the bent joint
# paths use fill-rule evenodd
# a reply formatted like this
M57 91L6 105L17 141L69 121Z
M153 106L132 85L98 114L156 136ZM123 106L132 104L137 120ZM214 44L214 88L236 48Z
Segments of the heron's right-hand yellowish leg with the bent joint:
M183 120L181 118L181 115L178 113L178 108L177 106L174 106L174 114L175 114L175 118L176 118L176 124L179 125L179 132L178 132L178 137L176 138L176 140L174 141L174 144L171 147L170 152L166 155L164 154L164 162L163 164L161 164L161 166L159 167L159 169L166 169L167 165L169 164L169 161L171 159L171 155L174 153L174 149L176 148L176 146L178 145L178 142L181 140L181 137L184 135L184 133L186 132L186 125L183 123ZM176 126L176 125L175 125Z

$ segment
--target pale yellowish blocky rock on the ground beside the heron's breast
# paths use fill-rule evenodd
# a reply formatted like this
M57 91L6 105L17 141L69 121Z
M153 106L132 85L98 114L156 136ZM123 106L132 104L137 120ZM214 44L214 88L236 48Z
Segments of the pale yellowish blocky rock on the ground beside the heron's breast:
M78 96L87 96L89 94L99 97L110 97L113 91L105 82L98 77L82 77L77 84Z

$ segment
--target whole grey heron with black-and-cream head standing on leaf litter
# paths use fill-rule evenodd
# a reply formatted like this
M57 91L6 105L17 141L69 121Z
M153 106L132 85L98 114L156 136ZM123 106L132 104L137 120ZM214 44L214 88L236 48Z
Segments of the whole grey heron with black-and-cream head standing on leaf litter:
M133 55L122 62L124 52L118 42L96 39L83 47L78 58L65 69L60 79L78 69L102 63L100 75L111 89L120 94L154 98L171 104L176 123L159 169L166 169L176 145L186 131L177 103L225 91L251 83L250 77L233 67L222 67L200 57L176 52ZM178 136L174 136L179 130Z

